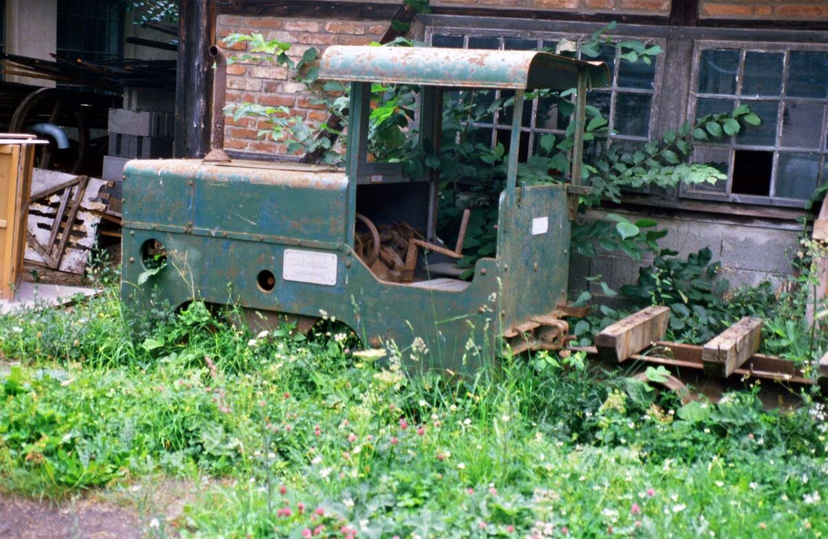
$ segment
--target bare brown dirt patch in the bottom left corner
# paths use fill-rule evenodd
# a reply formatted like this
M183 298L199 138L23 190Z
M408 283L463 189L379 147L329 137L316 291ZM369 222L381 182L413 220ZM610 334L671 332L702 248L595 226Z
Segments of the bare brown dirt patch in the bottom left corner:
M111 503L91 498L56 503L0 493L0 537L139 539L144 536L137 514Z

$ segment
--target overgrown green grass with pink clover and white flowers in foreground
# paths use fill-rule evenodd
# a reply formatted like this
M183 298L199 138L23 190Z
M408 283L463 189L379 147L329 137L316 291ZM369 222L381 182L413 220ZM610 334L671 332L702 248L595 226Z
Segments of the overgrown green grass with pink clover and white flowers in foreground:
M821 404L681 407L579 355L409 379L335 326L254 336L200 303L152 328L133 346L113 290L0 317L3 489L192 478L149 529L184 537L828 532Z

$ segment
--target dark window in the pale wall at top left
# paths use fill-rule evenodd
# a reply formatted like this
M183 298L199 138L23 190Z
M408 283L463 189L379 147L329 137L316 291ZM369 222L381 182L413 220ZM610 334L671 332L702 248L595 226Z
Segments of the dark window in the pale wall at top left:
M124 2L58 0L57 55L67 60L123 56Z

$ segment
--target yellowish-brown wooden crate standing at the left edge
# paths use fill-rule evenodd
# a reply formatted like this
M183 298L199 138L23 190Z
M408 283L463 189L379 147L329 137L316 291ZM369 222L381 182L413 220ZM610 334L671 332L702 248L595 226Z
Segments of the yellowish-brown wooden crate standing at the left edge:
M0 137L0 300L5 301L14 298L22 277L35 150L32 142Z

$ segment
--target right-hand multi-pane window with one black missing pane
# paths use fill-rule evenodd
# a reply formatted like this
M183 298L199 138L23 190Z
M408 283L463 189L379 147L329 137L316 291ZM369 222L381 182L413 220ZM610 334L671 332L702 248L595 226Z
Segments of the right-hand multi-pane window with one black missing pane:
M696 144L696 160L729 179L683 194L802 206L825 174L828 50L700 42L695 65L691 117L748 105L762 123L720 144Z

